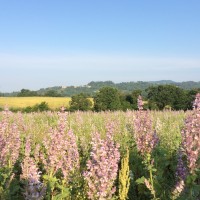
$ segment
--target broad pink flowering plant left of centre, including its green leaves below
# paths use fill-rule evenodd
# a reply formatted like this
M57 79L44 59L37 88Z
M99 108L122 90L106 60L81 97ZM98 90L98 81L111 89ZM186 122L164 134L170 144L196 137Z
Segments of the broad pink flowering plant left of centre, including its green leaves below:
M66 130L67 113L58 113L58 128L51 129L44 139L44 152L40 154L46 171L43 176L47 182L48 199L65 199L70 197L69 182L72 174L80 168L79 152L76 137L72 130ZM58 178L59 173L62 175ZM55 187L58 186L61 193L56 194Z

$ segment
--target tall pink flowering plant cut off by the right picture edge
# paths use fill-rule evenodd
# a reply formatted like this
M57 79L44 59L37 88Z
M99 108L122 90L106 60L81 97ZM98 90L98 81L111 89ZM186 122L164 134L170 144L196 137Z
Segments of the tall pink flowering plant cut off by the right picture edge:
M200 198L200 186L197 184L200 166L200 93L195 97L193 112L185 120L181 134L173 199L177 199L181 193L186 193L191 200L197 199Z

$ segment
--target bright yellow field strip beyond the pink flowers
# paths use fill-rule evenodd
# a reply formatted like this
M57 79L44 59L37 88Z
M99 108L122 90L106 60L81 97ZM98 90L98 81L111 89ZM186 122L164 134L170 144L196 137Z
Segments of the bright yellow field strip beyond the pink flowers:
M69 107L70 100L70 97L0 97L0 107L24 108L45 101L51 109L56 109L61 106Z

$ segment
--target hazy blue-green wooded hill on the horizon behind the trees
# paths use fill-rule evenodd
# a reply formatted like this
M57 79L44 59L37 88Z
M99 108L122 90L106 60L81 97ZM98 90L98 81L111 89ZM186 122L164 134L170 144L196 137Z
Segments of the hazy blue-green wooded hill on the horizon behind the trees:
M60 96L70 97L78 93L87 93L88 95L93 96L100 88L105 86L115 87L125 93L129 93L133 90L142 90L145 91L150 86L156 85L175 85L177 87L183 88L185 90L200 88L200 81L186 81L186 82L175 82L171 80L160 80L160 81L137 81L137 82L122 82L114 83L112 81L92 81L87 85L82 86L55 86L49 88L42 88L36 91L39 95L44 95L48 91L55 91ZM16 96L17 93L6 93L5 96Z

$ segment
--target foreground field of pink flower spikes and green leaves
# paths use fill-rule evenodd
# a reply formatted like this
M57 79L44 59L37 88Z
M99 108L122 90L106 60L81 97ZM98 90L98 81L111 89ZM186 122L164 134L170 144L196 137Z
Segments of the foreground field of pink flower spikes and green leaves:
M200 199L192 111L0 112L0 199Z

